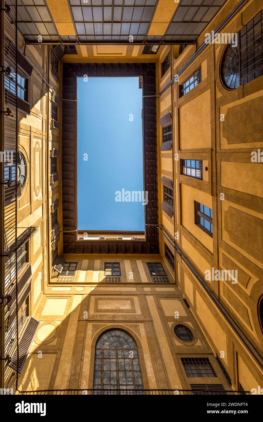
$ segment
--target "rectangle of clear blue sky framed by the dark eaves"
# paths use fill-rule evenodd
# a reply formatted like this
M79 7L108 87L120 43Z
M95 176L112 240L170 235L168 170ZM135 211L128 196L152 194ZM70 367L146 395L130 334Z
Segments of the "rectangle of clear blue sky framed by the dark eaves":
M144 230L144 205L115 200L123 188L143 190L138 77L77 78L77 84L78 229Z

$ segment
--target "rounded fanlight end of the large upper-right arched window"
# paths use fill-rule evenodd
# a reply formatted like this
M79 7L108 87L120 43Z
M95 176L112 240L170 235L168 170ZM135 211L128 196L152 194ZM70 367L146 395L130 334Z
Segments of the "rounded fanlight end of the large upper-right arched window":
M239 46L228 44L222 57L221 77L224 85L229 89L240 86Z

